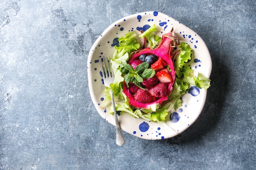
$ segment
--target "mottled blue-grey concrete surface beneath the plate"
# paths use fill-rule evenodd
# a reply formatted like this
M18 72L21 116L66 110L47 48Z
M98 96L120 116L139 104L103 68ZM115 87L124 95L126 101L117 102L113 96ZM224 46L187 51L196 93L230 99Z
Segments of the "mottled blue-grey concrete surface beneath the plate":
M207 44L213 69L195 123L149 141L97 113L88 53L112 22L159 11ZM0 170L255 170L255 0L1 0Z

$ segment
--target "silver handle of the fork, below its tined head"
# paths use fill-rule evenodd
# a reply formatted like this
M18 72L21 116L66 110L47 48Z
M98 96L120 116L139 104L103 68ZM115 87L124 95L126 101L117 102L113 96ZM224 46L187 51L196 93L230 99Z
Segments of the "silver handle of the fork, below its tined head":
M116 124L116 132L117 132L117 145L123 146L124 143L125 143L124 136L123 136L123 134L121 132L119 121L117 119L117 111L116 111L116 107L115 107L113 91L111 89L110 89L110 96L111 96L111 101L112 101L113 110L114 110L114 116L115 116L115 124Z

